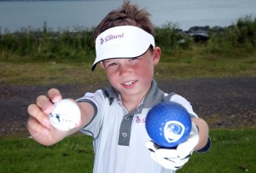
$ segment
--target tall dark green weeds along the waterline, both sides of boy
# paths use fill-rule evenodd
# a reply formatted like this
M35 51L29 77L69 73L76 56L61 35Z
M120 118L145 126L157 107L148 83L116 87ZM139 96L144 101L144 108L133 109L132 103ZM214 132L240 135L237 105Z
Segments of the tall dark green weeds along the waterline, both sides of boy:
M199 29L200 30L200 29ZM22 28L0 35L0 61L85 61L92 62L95 46L94 28L75 28L75 32L53 32L43 28ZM208 28L208 40L197 40L172 23L155 27L155 42L162 49L164 62L178 58L219 59L255 55L256 17L245 16L226 28ZM0 31L1 33L1 31Z

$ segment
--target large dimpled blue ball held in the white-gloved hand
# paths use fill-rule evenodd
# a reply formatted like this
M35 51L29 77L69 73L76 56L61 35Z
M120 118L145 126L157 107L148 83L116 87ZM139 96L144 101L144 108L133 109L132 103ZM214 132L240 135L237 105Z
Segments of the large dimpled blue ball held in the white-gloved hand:
M191 130L189 112L173 101L163 101L150 109L146 118L148 136L160 147L177 147Z

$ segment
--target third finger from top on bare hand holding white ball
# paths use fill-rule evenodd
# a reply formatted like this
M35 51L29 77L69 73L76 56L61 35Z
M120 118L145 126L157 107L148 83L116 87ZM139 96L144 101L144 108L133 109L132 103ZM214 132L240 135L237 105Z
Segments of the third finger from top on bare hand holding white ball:
M35 104L32 104L29 107L27 107L27 112L31 115L32 118L38 121L37 124L42 124L44 125L44 127L49 129L49 117L42 111L40 107L38 107Z

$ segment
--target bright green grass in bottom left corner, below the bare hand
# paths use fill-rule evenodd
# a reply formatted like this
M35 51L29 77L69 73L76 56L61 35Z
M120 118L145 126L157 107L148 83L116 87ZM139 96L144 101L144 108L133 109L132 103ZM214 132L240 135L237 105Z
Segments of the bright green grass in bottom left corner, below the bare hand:
M5 138L0 148L0 172L92 172L89 136L70 136L51 147L29 138Z

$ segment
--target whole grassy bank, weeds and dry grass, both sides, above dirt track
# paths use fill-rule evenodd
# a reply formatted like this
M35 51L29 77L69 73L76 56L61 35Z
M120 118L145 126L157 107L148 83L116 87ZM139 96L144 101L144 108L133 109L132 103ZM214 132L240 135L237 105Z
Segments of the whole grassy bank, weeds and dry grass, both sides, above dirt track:
M94 84L103 72L90 72L95 58L93 28L78 32L22 29L0 36L0 82L6 84ZM162 49L157 79L256 76L256 18L247 16L197 41L172 24L155 28Z

